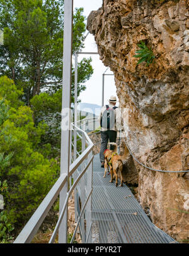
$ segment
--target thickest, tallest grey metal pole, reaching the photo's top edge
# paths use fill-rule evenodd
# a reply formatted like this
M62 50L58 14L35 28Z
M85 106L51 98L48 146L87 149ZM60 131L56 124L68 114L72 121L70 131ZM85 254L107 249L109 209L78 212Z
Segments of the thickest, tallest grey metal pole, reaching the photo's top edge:
M61 154L60 175L69 173L69 146L71 126L71 71L72 71L72 14L73 0L64 0L64 52L63 52L63 78L62 78L62 122L61 122ZM67 112L67 113L66 113ZM66 118L63 117L66 114ZM66 121L65 121L66 119ZM66 126L67 125L67 126ZM60 192L61 212L68 192L67 183ZM59 243L67 243L67 207L59 228Z

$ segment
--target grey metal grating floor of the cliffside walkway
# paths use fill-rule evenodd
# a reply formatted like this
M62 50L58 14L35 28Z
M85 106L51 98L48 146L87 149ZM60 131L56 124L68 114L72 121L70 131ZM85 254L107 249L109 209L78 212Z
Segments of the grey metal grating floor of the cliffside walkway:
M98 154L93 162L92 243L176 242L150 221L125 184L116 188L110 175L103 174Z

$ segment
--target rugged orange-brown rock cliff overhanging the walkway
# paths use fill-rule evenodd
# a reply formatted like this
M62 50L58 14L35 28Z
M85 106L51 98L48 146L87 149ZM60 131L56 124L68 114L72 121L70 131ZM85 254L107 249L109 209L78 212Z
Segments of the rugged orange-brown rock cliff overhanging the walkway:
M155 169L189 169L189 1L104 0L88 30L115 75L120 106L130 109L127 142L135 157ZM148 67L133 57L140 40L156 56ZM154 224L189 239L189 173L135 168L140 204Z

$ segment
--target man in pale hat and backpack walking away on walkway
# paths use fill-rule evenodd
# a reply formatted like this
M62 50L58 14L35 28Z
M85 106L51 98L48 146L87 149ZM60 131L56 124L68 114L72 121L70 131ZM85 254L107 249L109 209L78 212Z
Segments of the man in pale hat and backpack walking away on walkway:
M101 147L100 147L100 162L101 167L105 165L104 152L107 149L108 139L110 142L116 142L117 129L116 129L116 116L118 107L115 106L117 98L111 96L109 104L101 108L100 113L100 126L101 126ZM113 146L110 145L110 149Z

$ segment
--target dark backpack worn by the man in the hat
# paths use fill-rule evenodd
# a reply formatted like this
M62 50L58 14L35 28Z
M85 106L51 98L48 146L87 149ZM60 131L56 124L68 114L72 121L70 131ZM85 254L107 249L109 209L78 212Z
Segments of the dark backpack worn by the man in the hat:
M115 125L115 113L114 110L117 109L116 106L110 108L106 105L106 110L104 111L101 120L100 126L106 129L112 129Z

